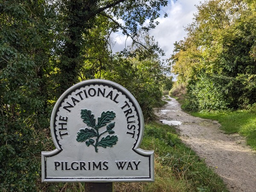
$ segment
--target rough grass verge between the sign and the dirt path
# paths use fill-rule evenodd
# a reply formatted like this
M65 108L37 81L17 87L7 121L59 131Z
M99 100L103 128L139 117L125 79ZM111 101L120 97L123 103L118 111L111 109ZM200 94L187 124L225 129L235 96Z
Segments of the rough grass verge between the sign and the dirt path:
M227 192L223 181L169 125L145 125L140 148L155 152L155 182L114 183L115 192Z

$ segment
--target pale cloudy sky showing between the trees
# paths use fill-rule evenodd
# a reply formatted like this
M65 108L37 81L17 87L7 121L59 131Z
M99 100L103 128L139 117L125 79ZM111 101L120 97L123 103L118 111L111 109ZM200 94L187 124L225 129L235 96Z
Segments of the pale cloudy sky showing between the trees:
M201 0L202 2L204 0ZM163 49L165 56L163 59L170 58L174 49L175 41L183 40L186 37L184 27L192 23L193 14L197 11L195 5L199 5L200 0L169 0L168 6L163 7L163 11L168 14L168 17L158 18L159 24L155 29L151 29L150 35L154 36L158 46ZM112 35L113 52L121 51L131 39L127 39L124 35L118 33Z

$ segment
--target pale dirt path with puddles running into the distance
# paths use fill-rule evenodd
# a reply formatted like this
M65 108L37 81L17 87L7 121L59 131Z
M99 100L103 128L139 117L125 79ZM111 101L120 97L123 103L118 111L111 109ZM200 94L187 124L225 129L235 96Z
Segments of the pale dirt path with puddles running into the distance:
M256 152L237 134L226 135L217 121L190 116L173 98L155 111L160 122L176 125L181 139L215 169L230 192L256 192Z

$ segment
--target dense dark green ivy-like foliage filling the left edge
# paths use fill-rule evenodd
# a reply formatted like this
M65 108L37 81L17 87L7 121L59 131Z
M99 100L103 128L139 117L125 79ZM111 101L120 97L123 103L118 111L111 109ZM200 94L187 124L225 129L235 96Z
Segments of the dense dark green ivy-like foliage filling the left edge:
M49 123L46 73L52 40L49 18L54 15L48 6L0 3L1 191L35 191L40 179L37 158L44 122Z

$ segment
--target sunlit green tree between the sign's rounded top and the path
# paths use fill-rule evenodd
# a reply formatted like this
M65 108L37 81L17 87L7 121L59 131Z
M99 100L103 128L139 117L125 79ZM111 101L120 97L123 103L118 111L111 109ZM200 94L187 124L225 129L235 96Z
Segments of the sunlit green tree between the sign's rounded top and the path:
M157 54L162 50L155 49L158 43L147 32L140 31L134 40L140 44L133 44L125 52L114 55L111 67L102 69L102 78L127 88L140 104L144 118L150 119L154 105L162 96L165 67Z

